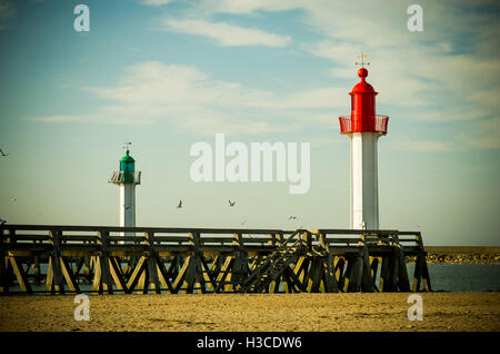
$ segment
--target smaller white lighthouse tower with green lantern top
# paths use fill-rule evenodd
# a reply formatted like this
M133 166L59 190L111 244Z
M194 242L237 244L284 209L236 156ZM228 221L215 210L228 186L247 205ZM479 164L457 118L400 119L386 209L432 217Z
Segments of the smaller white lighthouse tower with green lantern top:
M120 226L136 226L136 186L141 184L141 173L136 171L136 160L127 154L120 159L120 170L113 171L108 183L120 187ZM122 236L134 236L134 233L122 233Z

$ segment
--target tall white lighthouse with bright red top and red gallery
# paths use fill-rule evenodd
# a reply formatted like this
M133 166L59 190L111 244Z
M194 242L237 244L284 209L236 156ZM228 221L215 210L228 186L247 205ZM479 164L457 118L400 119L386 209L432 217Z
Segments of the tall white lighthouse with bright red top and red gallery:
M340 132L351 144L351 228L379 228L377 142L387 134L389 117L376 115L373 87L366 81L368 70L358 70L360 81L349 92L351 115L339 117Z

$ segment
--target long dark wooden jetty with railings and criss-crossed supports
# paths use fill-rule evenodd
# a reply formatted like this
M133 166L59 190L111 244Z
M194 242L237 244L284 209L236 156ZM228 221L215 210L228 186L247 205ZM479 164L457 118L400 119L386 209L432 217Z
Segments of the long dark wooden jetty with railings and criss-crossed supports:
M1 294L431 291L418 232L4 224L0 237Z

